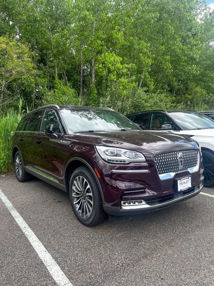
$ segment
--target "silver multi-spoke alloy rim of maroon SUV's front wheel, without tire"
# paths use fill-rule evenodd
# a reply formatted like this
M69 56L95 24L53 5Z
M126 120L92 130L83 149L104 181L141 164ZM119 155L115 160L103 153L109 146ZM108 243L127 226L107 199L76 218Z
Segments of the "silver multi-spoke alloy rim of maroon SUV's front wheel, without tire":
M88 181L82 176L77 176L74 179L72 199L79 215L88 218L93 209L93 196Z

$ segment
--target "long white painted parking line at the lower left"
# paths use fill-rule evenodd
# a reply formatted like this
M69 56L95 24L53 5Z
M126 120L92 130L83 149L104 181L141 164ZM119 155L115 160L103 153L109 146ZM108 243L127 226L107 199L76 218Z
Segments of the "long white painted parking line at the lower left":
M47 249L44 247L41 241L37 238L35 233L30 229L28 224L26 224L21 215L19 215L17 210L14 208L14 206L8 200L8 198L4 195L1 189L0 189L0 198L5 204L5 206L8 208L9 212L11 213L11 215L13 216L19 227L24 232L26 238L29 240L29 242L35 249L36 253L39 255L44 265L47 267L47 270L54 278L56 283L59 286L73 286L72 283L65 276L65 273L63 273L59 265L56 263L56 261L53 259L53 257L50 255L50 253L47 251Z

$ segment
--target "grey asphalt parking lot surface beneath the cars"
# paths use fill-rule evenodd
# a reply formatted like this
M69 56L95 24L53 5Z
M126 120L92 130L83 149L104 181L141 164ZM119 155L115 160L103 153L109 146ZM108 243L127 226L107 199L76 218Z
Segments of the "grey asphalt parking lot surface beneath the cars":
M214 285L212 196L88 228L67 193L38 179L0 177L0 189L70 285ZM1 286L57 285L1 199L0 238Z

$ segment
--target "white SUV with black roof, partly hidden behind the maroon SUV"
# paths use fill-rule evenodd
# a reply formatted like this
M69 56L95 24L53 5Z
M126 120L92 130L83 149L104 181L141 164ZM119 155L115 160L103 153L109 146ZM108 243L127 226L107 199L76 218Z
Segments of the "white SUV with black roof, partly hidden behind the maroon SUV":
M204 186L214 186L214 120L202 113L184 110L150 110L126 115L142 129L186 135L201 146Z

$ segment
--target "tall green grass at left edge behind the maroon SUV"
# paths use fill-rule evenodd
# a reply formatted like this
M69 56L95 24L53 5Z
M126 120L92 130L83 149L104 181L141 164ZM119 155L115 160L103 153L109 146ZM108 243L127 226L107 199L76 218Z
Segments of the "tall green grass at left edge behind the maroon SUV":
M12 162L12 136L21 120L22 99L19 101L19 111L8 110L8 113L0 118L0 174L14 171Z

